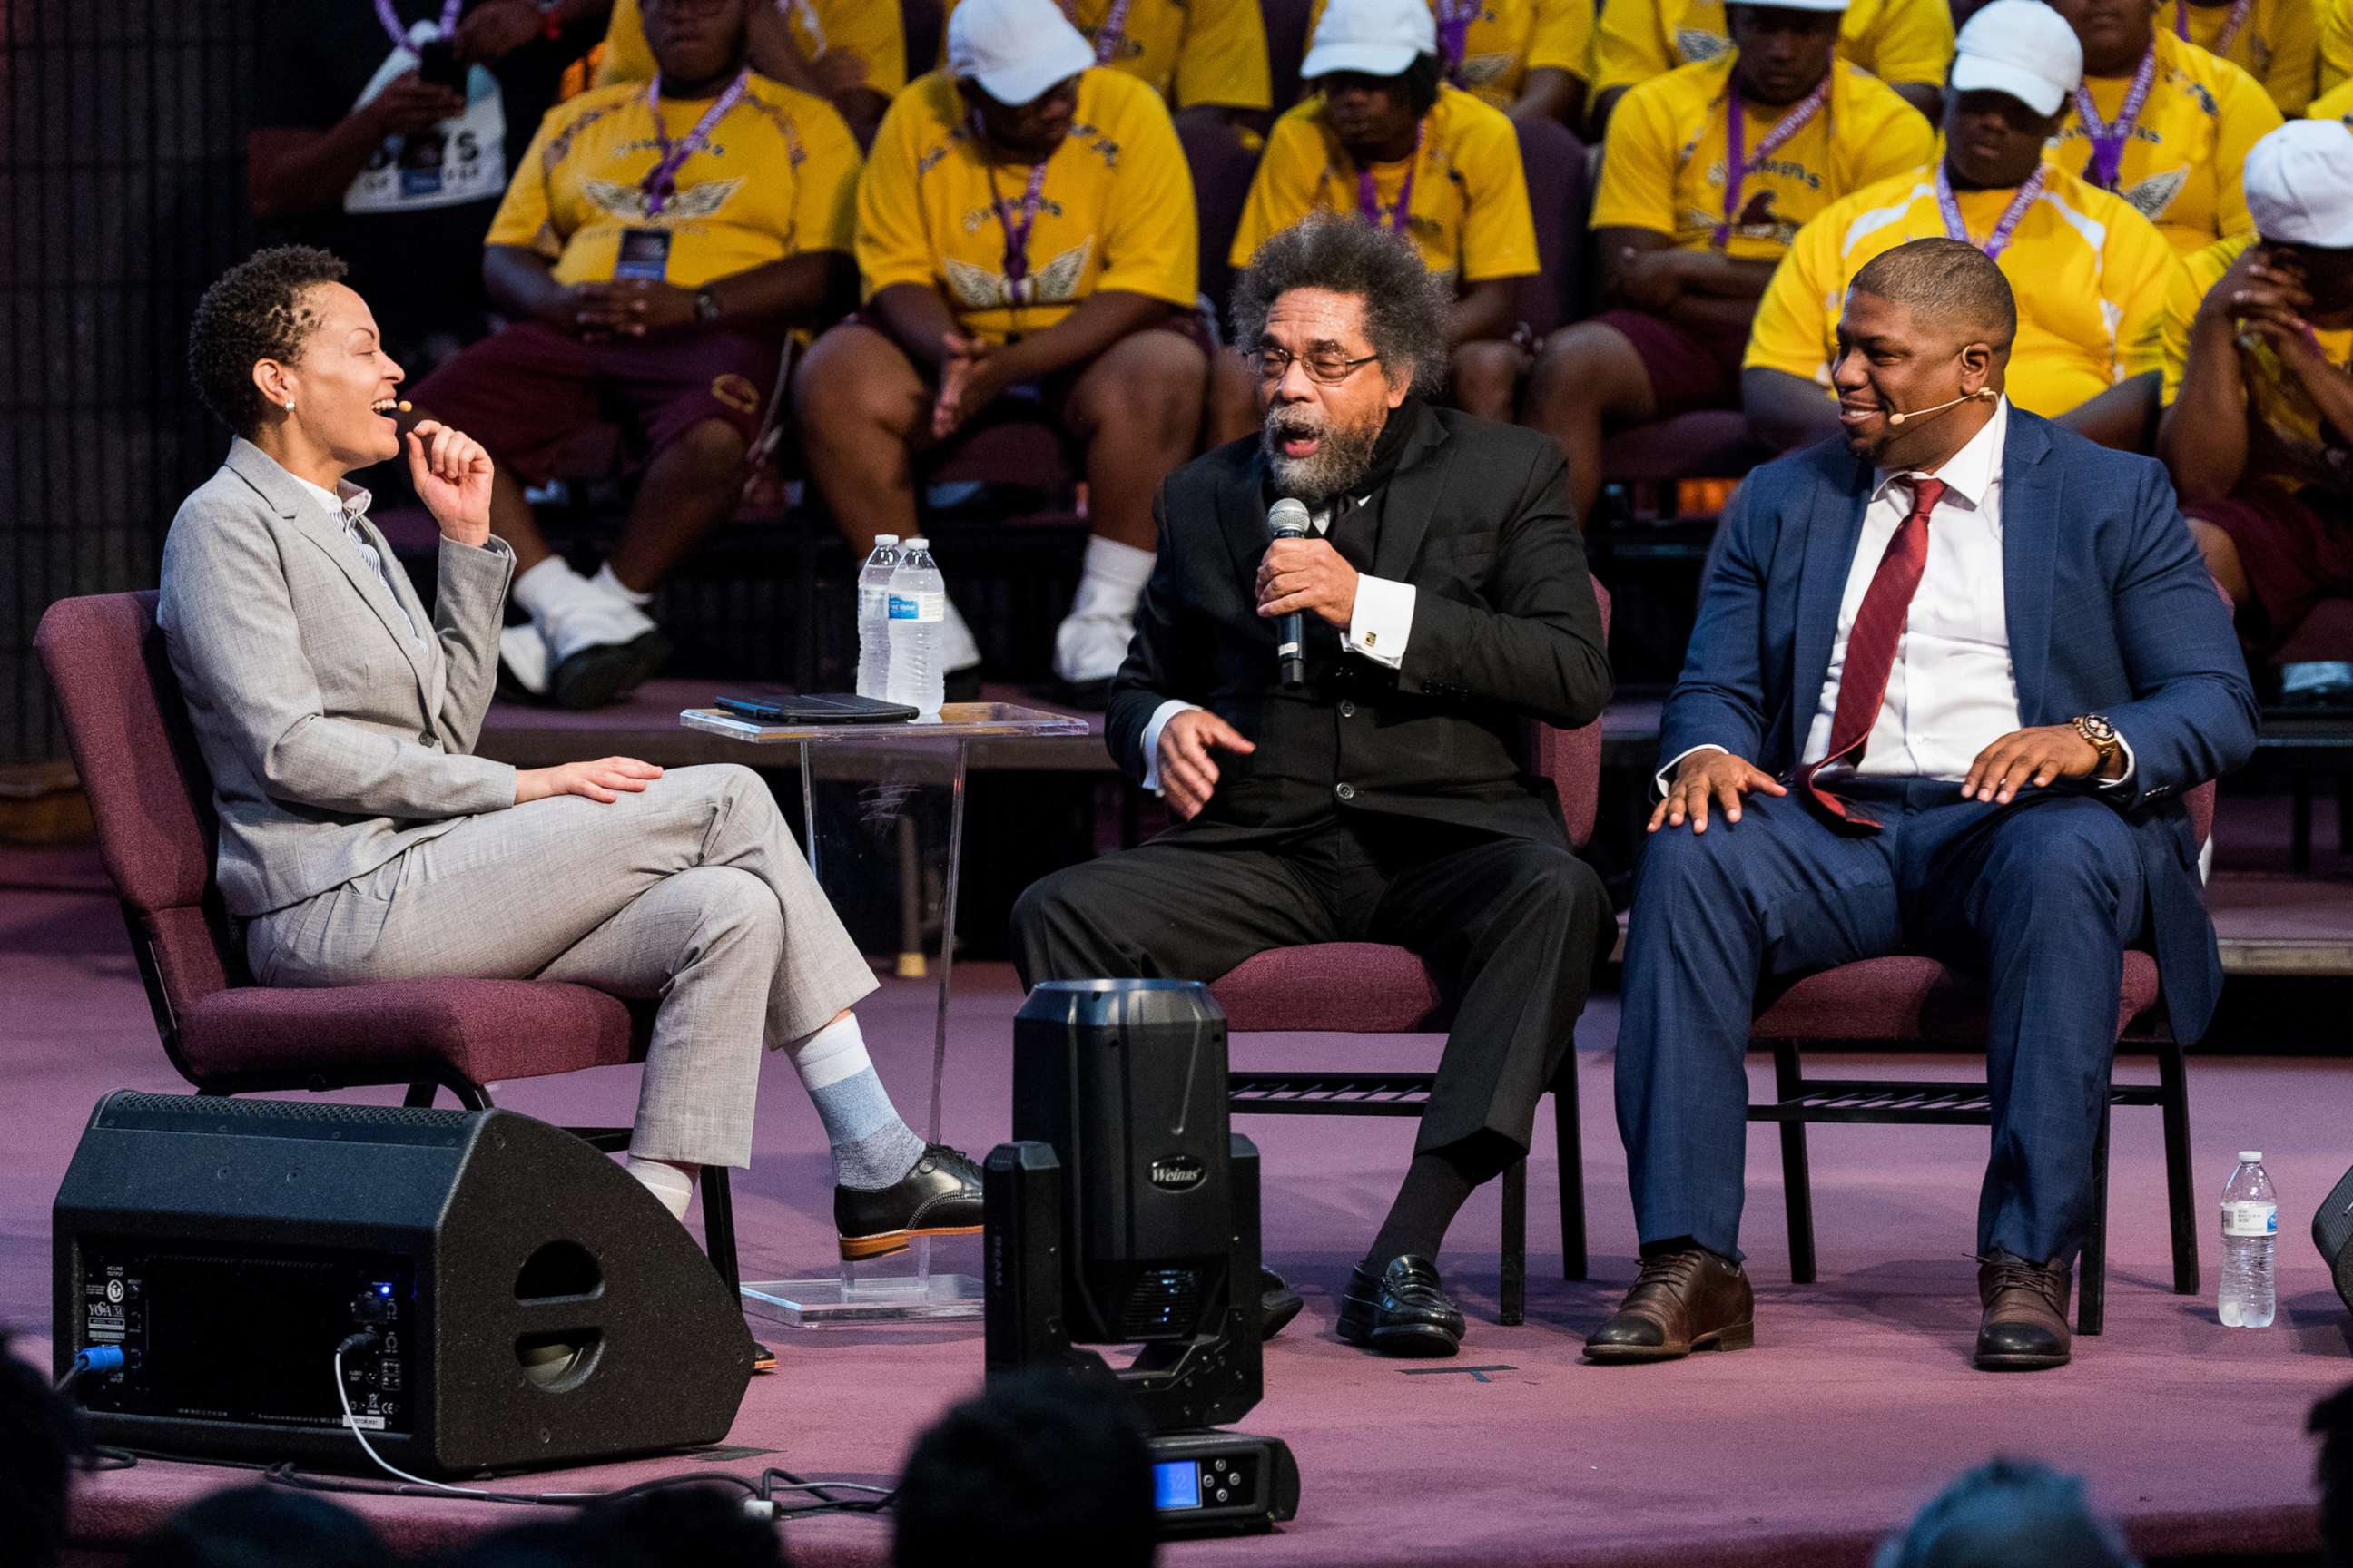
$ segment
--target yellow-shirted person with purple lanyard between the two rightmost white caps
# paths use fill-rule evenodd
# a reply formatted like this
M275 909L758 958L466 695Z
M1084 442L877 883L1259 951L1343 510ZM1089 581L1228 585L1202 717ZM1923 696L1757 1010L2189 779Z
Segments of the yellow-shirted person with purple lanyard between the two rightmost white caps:
M2148 0L2049 0L2082 82L2045 158L2125 197L2181 254L2254 233L2238 172L2280 106L2226 59L2155 24Z

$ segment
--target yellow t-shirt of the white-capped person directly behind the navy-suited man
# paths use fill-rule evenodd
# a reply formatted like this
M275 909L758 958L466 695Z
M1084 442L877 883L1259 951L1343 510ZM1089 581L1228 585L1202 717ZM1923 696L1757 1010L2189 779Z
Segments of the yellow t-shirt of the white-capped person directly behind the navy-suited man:
M1798 230L1774 268L1746 369L1777 369L1831 386L1838 313L1866 261L1908 240L1944 237L1937 169L1920 167L1833 202ZM1960 190L1960 219L1984 242L2014 190ZM2158 369L2158 315L2179 263L2165 235L2122 200L2049 169L1998 266L2019 303L2009 400L2057 416L2125 376Z

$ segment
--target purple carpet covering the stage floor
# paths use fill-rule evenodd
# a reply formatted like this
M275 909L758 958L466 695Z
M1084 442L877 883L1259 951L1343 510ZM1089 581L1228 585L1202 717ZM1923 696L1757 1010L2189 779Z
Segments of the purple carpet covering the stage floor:
M958 973L946 1135L984 1152L1007 1131L1009 1030L1019 997L1002 966ZM929 992L892 985L866 1034L901 1105L920 1107ZM179 1091L155 1044L139 976L96 860L0 853L0 1324L47 1356L49 1199L92 1100L108 1088ZM2353 1159L2353 1063L2191 1065L2205 1291L2167 1293L2158 1119L2120 1112L2113 1168L2108 1331L2059 1373L1969 1371L1977 1326L1972 1215L1981 1131L1817 1128L1821 1281L1791 1286L1779 1161L1751 1138L1748 1246L1758 1347L1654 1368L1579 1363L1579 1335L1633 1274L1633 1220L1609 1114L1617 1009L1579 1032L1591 1284L1560 1281L1548 1159L1529 1192L1529 1321L1494 1324L1497 1201L1454 1229L1447 1279L1471 1312L1452 1363L1384 1363L1332 1335L1337 1286L1405 1164L1412 1126L1360 1119L1245 1119L1266 1152L1266 1255L1308 1298L1268 1349L1266 1403L1249 1427L1299 1455L1299 1521L1273 1537L1172 1549L1174 1563L1864 1563L1946 1476L1993 1453L2080 1469L2127 1519L2144 1554L2308 1552L2311 1458L2301 1422L2353 1378L2346 1312L2306 1241L2313 1206ZM2341 1025L2339 1039L2341 1039ZM1417 1041L1245 1039L1240 1063L1421 1063ZM1962 1063L1920 1060L1920 1072ZM633 1072L511 1086L501 1100L551 1121L628 1121ZM376 1095L391 1098L391 1095ZM816 1117L784 1063L762 1093L758 1164L736 1180L748 1276L824 1267L828 1166ZM1548 1112L1546 1112L1548 1114ZM1551 1143L1548 1138L1544 1140ZM2233 1150L2261 1145L2285 1194L2280 1321L2214 1324L2214 1211ZM941 1265L979 1272L976 1246ZM760 1326L781 1371L753 1380L734 1453L673 1455L508 1481L518 1490L607 1488L654 1474L779 1465L889 1479L915 1432L981 1375L979 1324L798 1333ZM141 1462L89 1476L78 1561L111 1561L228 1472ZM400 1544L447 1544L515 1521L447 1500L362 1505ZM878 1563L887 1526L788 1526L798 1563Z

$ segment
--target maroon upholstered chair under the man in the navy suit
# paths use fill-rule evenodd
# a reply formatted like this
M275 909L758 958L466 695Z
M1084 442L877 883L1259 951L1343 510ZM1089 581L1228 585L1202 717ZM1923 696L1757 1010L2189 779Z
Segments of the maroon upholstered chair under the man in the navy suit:
M2214 785L2181 797L2198 844L2214 827ZM2158 961L2125 954L2125 985L2115 1006L2120 1044L2146 1046L2158 1058L2155 1084L2108 1084L2108 1105L2092 1145L2092 1232L2078 1265L2075 1328L2099 1333L2108 1302L2108 1110L2155 1105L2165 1114L2165 1194L2172 1211L2174 1293L2198 1293L2198 1204L2191 1197L2191 1105L2181 1041L2158 1006ZM1788 1274L1814 1284L1814 1197L1807 1175L1807 1121L1901 1121L1920 1126L1991 1126L1986 1084L1920 1079L1809 1079L1805 1046L1885 1051L1934 1046L1979 1051L1986 1044L1986 990L1937 959L1899 954L1840 964L1805 976L1772 997L1751 1027L1751 1041L1772 1046L1774 1098L1751 1105L1751 1121L1781 1124L1781 1185L1788 1204Z

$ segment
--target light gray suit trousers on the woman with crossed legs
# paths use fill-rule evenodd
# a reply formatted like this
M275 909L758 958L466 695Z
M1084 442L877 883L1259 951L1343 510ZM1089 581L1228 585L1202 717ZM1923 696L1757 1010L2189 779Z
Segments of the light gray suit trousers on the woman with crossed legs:
M438 976L659 997L631 1154L748 1166L760 1041L875 990L760 776L675 769L642 795L485 811L247 924L264 985Z

